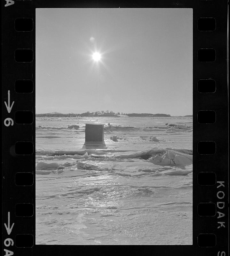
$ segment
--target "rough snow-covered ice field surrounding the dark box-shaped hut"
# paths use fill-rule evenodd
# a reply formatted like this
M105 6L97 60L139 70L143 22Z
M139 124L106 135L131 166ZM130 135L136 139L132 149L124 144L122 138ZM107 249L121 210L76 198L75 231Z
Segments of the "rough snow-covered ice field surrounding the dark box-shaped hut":
M192 244L192 161L192 117L36 118L36 244Z

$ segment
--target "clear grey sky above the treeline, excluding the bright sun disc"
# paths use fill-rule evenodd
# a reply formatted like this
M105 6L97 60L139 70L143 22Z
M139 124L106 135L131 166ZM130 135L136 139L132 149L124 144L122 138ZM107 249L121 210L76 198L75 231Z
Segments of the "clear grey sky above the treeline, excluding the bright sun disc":
M192 114L192 29L192 9L36 9L36 113Z

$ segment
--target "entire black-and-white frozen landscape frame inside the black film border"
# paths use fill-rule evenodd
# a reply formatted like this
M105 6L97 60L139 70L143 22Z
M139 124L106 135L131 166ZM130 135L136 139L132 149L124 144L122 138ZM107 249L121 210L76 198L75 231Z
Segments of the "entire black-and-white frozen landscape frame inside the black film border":
M193 10L36 9L36 244L192 244Z

